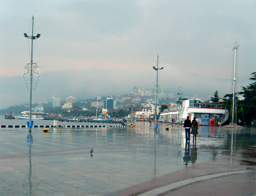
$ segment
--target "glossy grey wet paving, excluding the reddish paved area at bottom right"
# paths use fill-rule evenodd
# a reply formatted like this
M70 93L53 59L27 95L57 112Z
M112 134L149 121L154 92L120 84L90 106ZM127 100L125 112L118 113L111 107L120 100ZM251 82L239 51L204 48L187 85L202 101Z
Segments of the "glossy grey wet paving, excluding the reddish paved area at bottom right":
M135 122L117 128L62 128L32 135L1 129L0 195L105 195L220 155L255 169L255 128L200 126L185 142L182 126ZM93 154L90 150L93 148Z

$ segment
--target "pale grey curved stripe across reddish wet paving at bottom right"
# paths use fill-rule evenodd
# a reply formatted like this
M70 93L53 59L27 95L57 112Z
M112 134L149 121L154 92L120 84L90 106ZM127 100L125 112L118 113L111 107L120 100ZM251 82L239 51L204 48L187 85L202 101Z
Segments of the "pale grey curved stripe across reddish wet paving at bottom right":
M229 176L229 175L236 175L236 174L240 174L240 173L249 173L249 172L255 172L255 170L250 169L250 170L240 170L240 171L228 171L228 172L204 175L204 176L200 176L200 177L190 178L190 179L182 180L179 182L171 183L169 185L151 189L149 191L143 192L141 194L136 194L136 195L139 195L139 196L148 196L148 195L162 196L162 195L168 194L169 192L172 192L179 188L182 188L184 186L192 185L195 183L200 183L205 180L209 180L209 179L213 179L213 178L220 178L220 177Z

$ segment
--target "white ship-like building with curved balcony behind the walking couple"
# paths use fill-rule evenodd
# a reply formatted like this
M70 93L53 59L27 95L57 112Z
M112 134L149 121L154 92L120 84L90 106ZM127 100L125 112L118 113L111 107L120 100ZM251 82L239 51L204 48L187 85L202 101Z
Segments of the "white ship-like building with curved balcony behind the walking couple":
M229 112L223 109L223 104L219 102L200 102L195 99L187 99L180 104L170 105L169 108L161 112L159 121L182 123L187 116L196 120L201 125L220 125L227 121ZM179 112L180 110L180 112Z

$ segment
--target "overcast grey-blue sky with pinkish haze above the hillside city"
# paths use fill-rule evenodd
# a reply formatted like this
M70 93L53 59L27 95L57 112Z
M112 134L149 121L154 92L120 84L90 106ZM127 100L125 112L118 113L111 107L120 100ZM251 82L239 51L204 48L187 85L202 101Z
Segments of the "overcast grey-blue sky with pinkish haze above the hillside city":
M23 81L33 62L40 78L32 101L130 93L137 85L209 98L230 93L237 50L238 88L256 71L253 1L0 1L1 109L29 102Z

